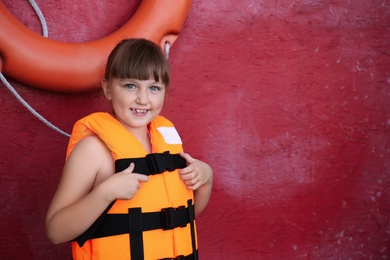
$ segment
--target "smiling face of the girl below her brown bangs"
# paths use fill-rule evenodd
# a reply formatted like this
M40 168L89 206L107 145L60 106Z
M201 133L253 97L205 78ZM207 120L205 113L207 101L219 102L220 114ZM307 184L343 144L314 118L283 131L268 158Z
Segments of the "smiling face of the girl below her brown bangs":
M148 80L116 79L102 83L104 94L111 100L115 117L131 132L144 130L160 114L164 105L165 85Z

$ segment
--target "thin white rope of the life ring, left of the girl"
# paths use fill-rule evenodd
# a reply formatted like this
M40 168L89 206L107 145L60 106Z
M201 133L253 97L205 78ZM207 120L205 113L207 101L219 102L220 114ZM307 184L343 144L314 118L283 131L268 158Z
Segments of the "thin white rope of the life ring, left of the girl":
M34 0L29 0L31 6L34 8L35 12L37 13L39 20L41 21L42 30L43 30L43 36L48 37L48 31L47 31L47 25L45 18L42 15L41 10L39 9L38 5L35 3ZM17 100L19 100L22 105L27 108L28 111L31 112L35 117L37 117L39 120L41 120L45 125L47 125L49 128L59 132L60 134L63 134L67 137L70 135L61 129L59 129L57 126L50 123L46 118L41 116L34 108L32 108L20 95L19 93L11 86L11 84L7 81L7 79L4 77L3 73L0 72L0 79L4 83L4 85L11 91L11 93L16 97Z

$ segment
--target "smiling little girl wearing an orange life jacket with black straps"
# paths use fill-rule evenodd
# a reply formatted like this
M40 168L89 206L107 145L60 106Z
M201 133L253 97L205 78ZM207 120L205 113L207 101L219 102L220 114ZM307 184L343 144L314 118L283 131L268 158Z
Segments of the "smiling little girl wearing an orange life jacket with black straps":
M109 55L102 87L114 112L74 125L46 217L48 238L72 241L73 259L198 259L194 219L213 172L159 115L169 80L151 41L123 40Z

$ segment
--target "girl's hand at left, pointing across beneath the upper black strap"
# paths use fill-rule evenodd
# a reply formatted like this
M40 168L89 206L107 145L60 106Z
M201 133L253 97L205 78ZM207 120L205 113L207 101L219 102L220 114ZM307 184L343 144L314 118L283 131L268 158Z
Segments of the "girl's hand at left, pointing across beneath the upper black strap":
M141 188L141 182L148 181L148 176L133 173L134 167L134 163L131 163L129 167L112 175L102 183L109 201L132 199Z

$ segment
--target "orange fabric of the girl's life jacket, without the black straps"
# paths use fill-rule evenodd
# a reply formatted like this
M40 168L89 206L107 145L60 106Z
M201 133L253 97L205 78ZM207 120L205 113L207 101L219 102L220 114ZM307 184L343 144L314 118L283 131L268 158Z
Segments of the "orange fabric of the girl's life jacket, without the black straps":
M152 153L182 151L180 137L173 124L166 118L158 116L148 128ZM114 160L147 155L141 143L113 116L108 113L93 113L74 125L66 156L69 156L81 139L92 134L98 135L104 141ZM193 192L184 185L177 170L163 172L149 176L149 181L142 183L132 199L117 200L108 214L128 214L129 209L138 207L142 208L143 213L159 212L164 208L186 206L188 200L193 200ZM193 243L197 244L194 226L190 227L189 224L170 230L145 231L142 235L144 259L172 259L191 255ZM72 242L73 258L75 260L130 259L130 240L131 235L122 234L89 239L82 247Z

